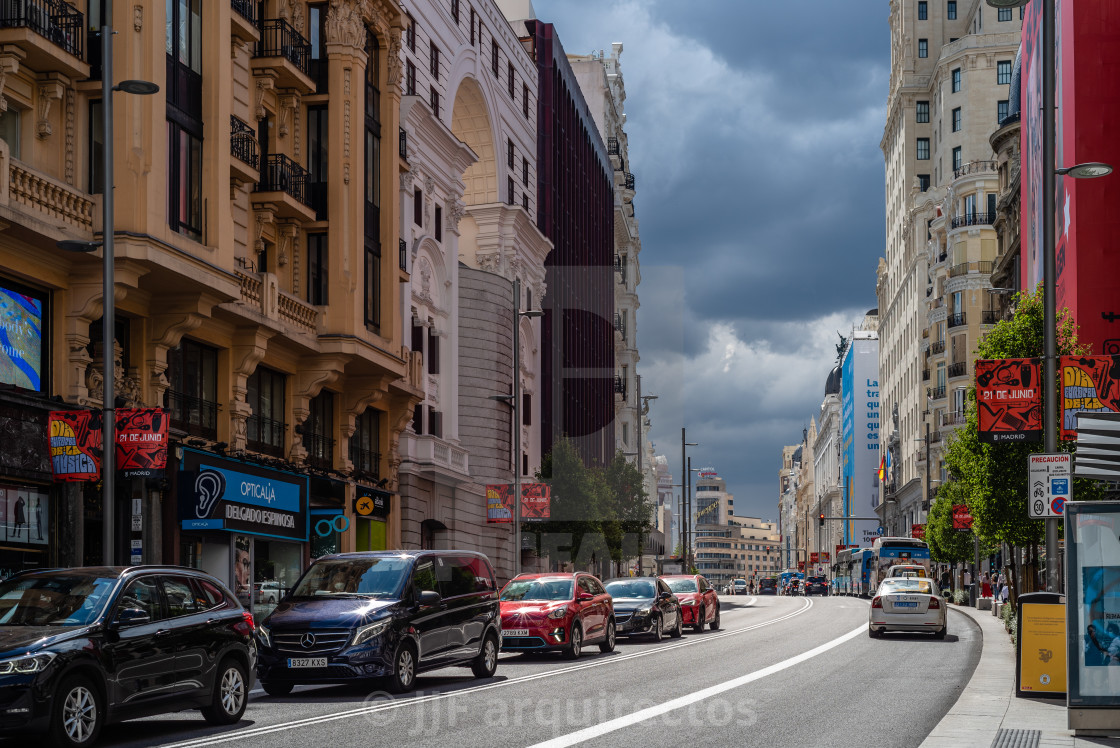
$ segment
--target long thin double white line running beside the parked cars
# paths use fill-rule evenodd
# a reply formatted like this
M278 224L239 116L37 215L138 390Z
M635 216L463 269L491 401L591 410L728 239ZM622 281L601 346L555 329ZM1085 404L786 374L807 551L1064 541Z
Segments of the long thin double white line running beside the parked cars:
M542 673L533 673L532 675L522 675L520 677L512 677L507 681L501 681L498 683L487 683L486 685L476 685L468 689L459 689L456 691L448 691L445 693L433 693L427 696L418 696L413 699L402 699L396 701L389 701L377 703L373 707L361 707L357 709L347 709L342 712L334 712L330 714L320 714L318 717L308 717L301 720L293 720L291 722L281 722L279 724L271 724L268 727L250 728L248 730L239 730L235 732L228 732L225 735L217 735L206 738L197 738L194 740L184 740L181 742L174 742L167 746L167 748L203 748L204 746L216 746L223 742L231 742L233 740L243 740L245 738L255 738L263 735L269 735L271 732L282 732L286 730L295 730L301 727L311 727L314 724L321 724L324 722L334 722L340 719L347 719L351 717L360 717L362 714L371 714L373 712L389 711L391 709L402 709L404 707L411 707L413 704L421 704L430 701L442 701L445 699L450 699L452 696L460 696L474 693L480 693L483 691L489 691L491 689L501 689L507 685L515 685L519 683L526 683L529 681L538 681L545 677L552 677L554 675L564 675L578 670L589 670L591 667L601 667L604 665L610 665L614 663L626 662L628 660L636 660L637 657L646 657L650 655L655 655L661 652L669 652L671 649L679 649L680 647L691 646L693 644L703 644L704 642L715 642L716 639L721 639L727 636L736 636L746 632L754 630L756 628L762 628L763 626L769 626L771 624L776 624L783 620L787 620L795 616L800 616L810 608L813 607L812 600L803 600L804 606L794 610L793 613L787 613L777 618L771 618L750 626L745 626L744 628L736 628L732 630L720 630L717 634L708 635L702 638L690 637L678 644L671 644L668 646L644 649L642 652L634 652L625 655L615 655L613 657L604 657L603 660L595 660L582 665L572 665L569 667L559 667L557 670L544 671Z

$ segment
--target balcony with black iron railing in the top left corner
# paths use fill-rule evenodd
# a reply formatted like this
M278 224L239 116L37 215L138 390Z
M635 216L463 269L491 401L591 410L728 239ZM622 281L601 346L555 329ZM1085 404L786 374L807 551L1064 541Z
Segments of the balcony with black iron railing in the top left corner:
M36 73L62 73L85 78L84 17L62 0L3 0L0 2L0 45L25 53L24 64ZM62 50L63 55L58 54Z

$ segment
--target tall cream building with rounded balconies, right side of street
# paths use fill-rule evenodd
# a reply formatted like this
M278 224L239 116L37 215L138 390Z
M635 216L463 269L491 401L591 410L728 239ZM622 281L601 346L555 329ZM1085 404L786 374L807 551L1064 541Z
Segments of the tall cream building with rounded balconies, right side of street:
M988 289L1000 185L989 137L1008 115L1020 29L1018 10L983 0L890 4L887 243L876 292L884 422L897 423L881 430L892 535L925 522L927 466L932 489L943 439L963 422L977 340L996 321Z

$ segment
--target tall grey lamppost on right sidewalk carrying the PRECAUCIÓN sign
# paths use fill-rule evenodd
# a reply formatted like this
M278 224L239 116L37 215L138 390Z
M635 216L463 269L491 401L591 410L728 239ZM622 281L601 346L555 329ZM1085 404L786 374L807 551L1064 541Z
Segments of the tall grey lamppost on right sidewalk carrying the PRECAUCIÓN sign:
M1048 454L1057 451L1057 330L1054 259L1054 0L1043 2L1043 431ZM1046 590L1057 592L1057 518L1046 520ZM1028 588L1029 589L1029 588Z

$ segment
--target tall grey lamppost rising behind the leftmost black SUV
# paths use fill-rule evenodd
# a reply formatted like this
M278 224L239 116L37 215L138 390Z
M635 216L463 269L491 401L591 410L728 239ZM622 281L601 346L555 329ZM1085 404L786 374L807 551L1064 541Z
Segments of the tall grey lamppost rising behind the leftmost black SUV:
M106 567L115 565L113 521L116 517L116 439L114 430L114 392L116 363L114 357L115 342L115 305L113 290L113 3L104 3L104 24L101 27L101 128L105 140L103 149L104 162L102 171L105 185L102 195L102 315L101 315L101 356L104 363L105 383L102 387L101 402L101 495L102 495L102 559Z

